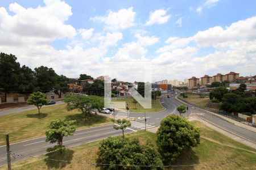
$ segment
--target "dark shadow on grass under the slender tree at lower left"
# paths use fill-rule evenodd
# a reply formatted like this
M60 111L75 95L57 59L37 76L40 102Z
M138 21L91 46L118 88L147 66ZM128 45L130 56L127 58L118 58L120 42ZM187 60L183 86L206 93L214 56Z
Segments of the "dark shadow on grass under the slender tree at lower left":
M48 169L64 168L67 166L67 164L71 163L73 159L73 154L74 154L74 151L69 150L67 148L62 154L60 154L60 152L51 152L46 154L46 159L44 159L44 162L46 162Z

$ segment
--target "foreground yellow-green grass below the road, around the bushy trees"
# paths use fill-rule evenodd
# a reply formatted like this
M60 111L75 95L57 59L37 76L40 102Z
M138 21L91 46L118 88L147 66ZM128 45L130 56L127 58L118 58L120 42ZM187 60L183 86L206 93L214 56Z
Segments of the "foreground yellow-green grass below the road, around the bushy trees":
M242 145L209 129L207 126L198 121L193 124L201 128L201 143L199 146L186 151L176 159L172 165L191 165L196 166L176 167L169 169L254 169L256 160L246 161L248 159L256 159L256 150L254 148ZM137 133L127 134L126 137L138 137L142 144L149 139L152 143L156 143L156 135L147 131L139 131ZM100 142L92 142L81 146L71 147L65 151L65 155L60 156L53 152L51 154L42 155L39 158L22 160L13 163L13 169L99 169L94 165L86 163L94 163ZM253 153L254 152L254 153ZM79 163L64 163L45 160L44 158L70 160ZM228 163L240 162L240 163ZM223 163L223 164L222 164ZM0 170L6 169L1 167Z

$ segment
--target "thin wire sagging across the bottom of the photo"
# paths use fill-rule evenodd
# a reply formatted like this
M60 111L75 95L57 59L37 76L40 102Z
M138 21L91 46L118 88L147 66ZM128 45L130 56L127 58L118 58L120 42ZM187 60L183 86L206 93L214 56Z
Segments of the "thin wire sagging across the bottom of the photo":
M36 156L29 156L29 155L23 155L23 154L11 154L13 156L24 156L27 158L38 158ZM50 158L38 158L42 160L52 160L56 162L65 162L65 163L77 163L77 164L86 164L86 165L111 165L111 166L119 166L119 167L160 167L160 166L154 166L154 165L125 165L125 164L101 164L101 163L86 163L86 162L74 162L71 160L58 160L58 159L50 159ZM164 165L163 167L193 167L193 166L203 166L203 165L220 165L220 164L236 164L236 163L242 163L242 162L250 162L250 161L256 161L256 159L246 159L241 161L229 161L229 162L221 162L221 163L205 163L205 164L188 164L188 165Z

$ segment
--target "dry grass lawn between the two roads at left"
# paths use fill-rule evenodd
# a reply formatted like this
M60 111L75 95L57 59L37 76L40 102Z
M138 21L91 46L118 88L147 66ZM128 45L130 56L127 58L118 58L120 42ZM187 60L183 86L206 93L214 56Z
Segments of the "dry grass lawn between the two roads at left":
M105 125L110 119L103 116L94 116L83 120L79 111L67 111L65 104L42 107L38 110L24 111L6 116L0 116L0 146L5 145L5 134L9 133L10 142L24 141L25 139L44 136L46 127L51 120L65 117L77 121L77 129L90 126Z

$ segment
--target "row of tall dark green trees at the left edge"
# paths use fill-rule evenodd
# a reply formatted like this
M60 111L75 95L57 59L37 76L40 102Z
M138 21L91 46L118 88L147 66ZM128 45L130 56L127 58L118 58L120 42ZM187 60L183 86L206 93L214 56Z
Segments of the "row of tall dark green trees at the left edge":
M0 53L0 90L5 92L5 101L10 91L28 93L55 89L61 95L69 90L66 76L57 75L52 68L44 66L31 70L25 65L20 66L16 59L13 54Z

